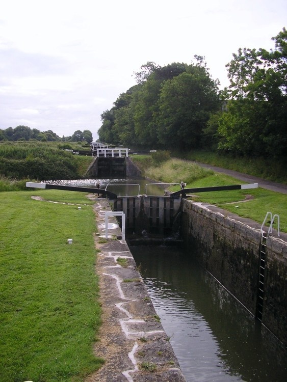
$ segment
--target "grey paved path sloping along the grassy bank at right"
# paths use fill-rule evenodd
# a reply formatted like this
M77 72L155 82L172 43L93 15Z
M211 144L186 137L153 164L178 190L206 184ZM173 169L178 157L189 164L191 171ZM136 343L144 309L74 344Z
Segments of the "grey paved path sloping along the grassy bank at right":
M271 182L271 181L268 181L268 180L265 180L262 178L257 178L257 177L252 176L252 175L242 174L242 173L239 173L238 171L227 170L227 169L222 169L221 167L206 165L205 163L200 163L200 162L196 162L196 163L197 163L197 165L199 165L201 167L211 169L217 173L222 173L222 174L232 176L233 178L242 180L243 182L258 183L259 187L270 189L272 191L276 191L277 193L287 194L287 185L286 184Z

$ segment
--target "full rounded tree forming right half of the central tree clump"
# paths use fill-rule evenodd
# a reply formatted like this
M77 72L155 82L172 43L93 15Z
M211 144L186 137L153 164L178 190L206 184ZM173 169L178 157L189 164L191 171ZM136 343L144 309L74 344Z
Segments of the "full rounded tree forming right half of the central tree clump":
M218 81L205 67L191 65L187 72L165 81L159 105L159 142L169 148L199 147L202 129L219 109Z

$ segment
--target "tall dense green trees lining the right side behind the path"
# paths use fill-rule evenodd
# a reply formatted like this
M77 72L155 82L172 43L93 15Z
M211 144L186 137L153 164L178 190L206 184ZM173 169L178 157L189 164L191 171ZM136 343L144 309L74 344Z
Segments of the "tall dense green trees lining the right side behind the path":
M219 90L204 57L190 65L147 62L137 85L101 114L99 140L152 149L218 150L246 156L286 155L287 32L275 48L240 48Z

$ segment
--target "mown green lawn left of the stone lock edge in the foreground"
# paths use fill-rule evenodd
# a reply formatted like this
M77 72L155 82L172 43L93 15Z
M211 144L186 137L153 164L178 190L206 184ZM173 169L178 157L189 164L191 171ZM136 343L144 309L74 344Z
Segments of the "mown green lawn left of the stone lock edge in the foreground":
M0 380L83 381L103 362L93 354L100 325L93 202L38 189L2 192L0 203Z

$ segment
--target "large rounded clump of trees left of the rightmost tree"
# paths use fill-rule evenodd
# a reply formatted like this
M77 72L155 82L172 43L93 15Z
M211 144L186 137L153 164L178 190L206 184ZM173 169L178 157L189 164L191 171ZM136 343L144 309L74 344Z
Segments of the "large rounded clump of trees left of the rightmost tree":
M142 147L181 147L200 144L211 113L219 108L218 82L202 57L196 65L152 62L135 73L138 85L122 93L101 115L102 142Z

